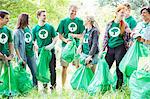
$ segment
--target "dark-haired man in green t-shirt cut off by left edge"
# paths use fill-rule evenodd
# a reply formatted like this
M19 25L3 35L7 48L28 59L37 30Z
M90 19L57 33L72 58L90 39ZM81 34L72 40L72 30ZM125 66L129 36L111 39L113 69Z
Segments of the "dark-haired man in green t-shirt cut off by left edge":
M13 58L12 33L5 25L9 22L9 12L0 10L0 75L5 61Z

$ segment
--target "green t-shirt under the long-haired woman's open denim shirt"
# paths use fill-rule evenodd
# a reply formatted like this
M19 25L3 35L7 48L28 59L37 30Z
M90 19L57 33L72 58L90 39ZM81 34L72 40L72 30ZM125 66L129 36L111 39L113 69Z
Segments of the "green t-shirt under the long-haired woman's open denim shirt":
M29 57L34 56L33 51L33 36L29 27L24 29L24 38L25 38L25 49L26 55Z

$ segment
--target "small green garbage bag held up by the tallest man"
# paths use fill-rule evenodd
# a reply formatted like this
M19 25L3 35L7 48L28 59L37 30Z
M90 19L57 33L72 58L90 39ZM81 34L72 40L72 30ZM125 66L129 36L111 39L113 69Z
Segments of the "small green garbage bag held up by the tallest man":
M69 35L69 39L71 40L71 43L67 43L63 49L61 58L64 61L71 63L75 58L78 58L78 55L76 55L77 47L75 39L71 35Z

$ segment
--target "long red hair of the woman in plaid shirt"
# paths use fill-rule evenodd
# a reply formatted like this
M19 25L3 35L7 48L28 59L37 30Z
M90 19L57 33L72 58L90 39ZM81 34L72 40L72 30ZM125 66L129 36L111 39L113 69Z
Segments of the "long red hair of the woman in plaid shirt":
M126 9L126 6L124 5L117 6L116 13L118 13L122 9ZM121 31L121 35L124 34L125 32L125 22L123 20L120 21L120 31Z

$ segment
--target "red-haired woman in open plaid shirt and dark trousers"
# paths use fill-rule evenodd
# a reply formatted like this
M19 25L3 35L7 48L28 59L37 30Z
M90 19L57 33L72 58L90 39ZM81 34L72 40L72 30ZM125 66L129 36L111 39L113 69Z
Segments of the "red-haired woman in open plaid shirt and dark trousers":
M109 68L116 61L116 74L118 78L116 89L121 87L123 83L123 74L119 70L119 63L127 51L128 40L130 38L129 33L131 32L127 24L123 21L125 11L125 6L119 5L117 7L115 19L107 25L103 42L103 51L107 48L105 59Z

